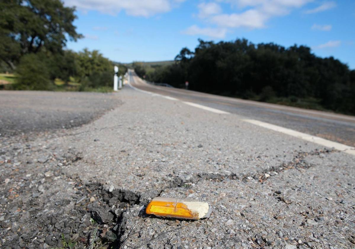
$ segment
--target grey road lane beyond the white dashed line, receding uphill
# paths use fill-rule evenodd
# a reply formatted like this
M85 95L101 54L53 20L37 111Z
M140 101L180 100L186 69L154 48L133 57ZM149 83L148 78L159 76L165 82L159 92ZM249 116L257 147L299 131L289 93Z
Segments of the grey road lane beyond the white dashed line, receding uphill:
M244 118L256 119L348 146L355 146L355 117L352 116L153 86L140 79L134 71L130 71L130 79L132 86L143 91L201 104Z

